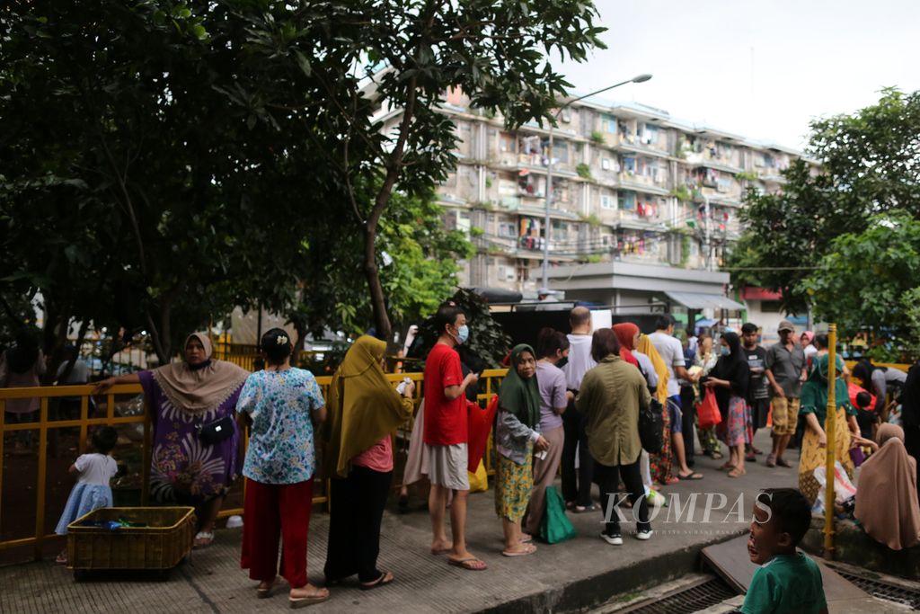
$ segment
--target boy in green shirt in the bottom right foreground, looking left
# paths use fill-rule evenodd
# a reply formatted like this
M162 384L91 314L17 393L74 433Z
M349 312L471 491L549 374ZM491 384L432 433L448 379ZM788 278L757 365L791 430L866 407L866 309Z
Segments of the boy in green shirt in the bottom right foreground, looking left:
M794 488L758 492L748 555L753 573L743 614L827 614L821 570L796 546L811 525L811 505Z

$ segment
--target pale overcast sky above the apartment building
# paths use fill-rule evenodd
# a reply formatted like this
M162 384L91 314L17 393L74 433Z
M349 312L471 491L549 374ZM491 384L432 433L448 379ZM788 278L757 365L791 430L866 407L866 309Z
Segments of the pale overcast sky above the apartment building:
M583 94L802 147L812 118L848 113L881 87L920 89L920 0L596 0L606 50L563 64Z

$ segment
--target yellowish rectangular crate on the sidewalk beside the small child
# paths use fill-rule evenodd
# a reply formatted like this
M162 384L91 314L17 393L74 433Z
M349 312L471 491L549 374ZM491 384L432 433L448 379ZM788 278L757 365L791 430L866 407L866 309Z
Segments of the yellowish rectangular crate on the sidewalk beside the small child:
M86 520L126 518L146 527L81 526ZM101 507L67 526L67 562L75 571L167 570L190 552L195 537L193 507Z

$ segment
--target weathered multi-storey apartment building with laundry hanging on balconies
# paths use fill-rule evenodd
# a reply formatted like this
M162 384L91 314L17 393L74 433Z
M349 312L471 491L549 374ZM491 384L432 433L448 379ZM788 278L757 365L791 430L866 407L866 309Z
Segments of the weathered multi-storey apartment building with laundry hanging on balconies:
M477 247L461 284L535 295L548 240L550 287L639 310L693 302L667 292L724 295L729 276L718 269L741 233L743 191L781 189L779 171L799 155L638 104L572 104L559 114L551 152L548 125L508 131L461 91L445 94L443 113L454 121L457 168L439 199L447 225Z

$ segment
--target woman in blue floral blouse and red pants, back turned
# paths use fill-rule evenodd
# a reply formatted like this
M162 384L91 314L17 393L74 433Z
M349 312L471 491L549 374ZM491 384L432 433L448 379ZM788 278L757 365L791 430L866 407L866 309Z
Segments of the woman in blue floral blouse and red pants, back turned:
M290 605L296 608L329 598L326 588L310 585L306 577L316 469L313 431L326 418L326 407L313 374L291 366L293 345L286 331L266 332L261 349L265 370L247 378L236 404L249 426L241 566L259 580L257 596L269 597L278 581L280 536L281 575L291 585Z

